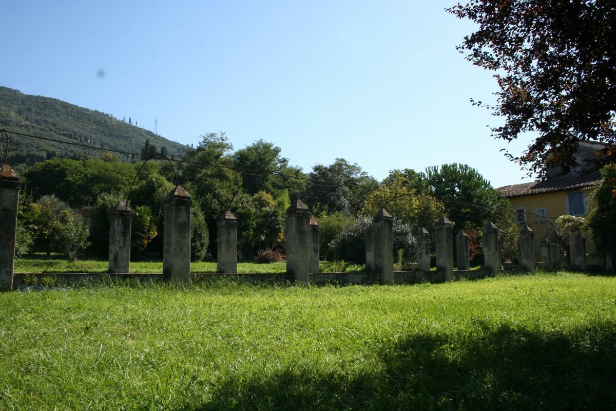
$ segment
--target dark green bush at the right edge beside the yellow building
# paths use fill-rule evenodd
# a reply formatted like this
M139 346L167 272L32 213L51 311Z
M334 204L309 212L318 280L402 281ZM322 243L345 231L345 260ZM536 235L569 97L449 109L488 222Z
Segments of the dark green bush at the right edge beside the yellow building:
M589 198L588 227L593 236L597 253L616 257L616 165L601 169L601 182Z

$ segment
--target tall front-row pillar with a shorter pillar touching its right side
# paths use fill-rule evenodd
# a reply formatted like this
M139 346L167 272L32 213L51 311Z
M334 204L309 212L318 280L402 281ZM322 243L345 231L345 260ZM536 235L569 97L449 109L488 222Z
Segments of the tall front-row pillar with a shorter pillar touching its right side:
M286 272L291 282L310 281L310 211L299 199L286 209Z

